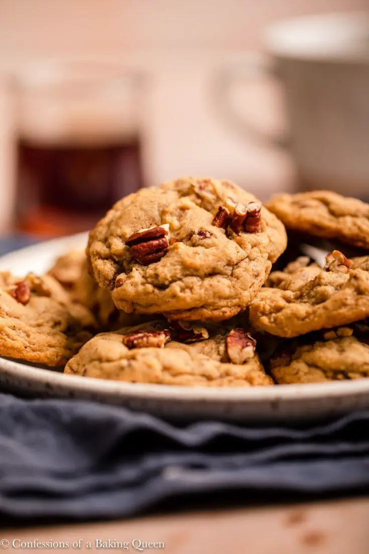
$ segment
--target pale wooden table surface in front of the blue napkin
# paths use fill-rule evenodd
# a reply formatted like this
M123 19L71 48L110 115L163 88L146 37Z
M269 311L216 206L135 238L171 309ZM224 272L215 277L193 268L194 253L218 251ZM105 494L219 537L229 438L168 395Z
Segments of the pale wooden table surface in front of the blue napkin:
M152 554L368 554L368 516L369 497L190 512L103 523L11 529L0 532L0 550L49 553L123 552L126 549L128 552ZM9 541L8 548L4 540ZM50 549L22 544L23 541L35 540L64 541L69 545L64 548L55 545ZM127 547L119 545L119 542L126 542ZM159 547L145 547L145 543L149 542L157 542ZM164 543L164 547L160 547L160 543Z

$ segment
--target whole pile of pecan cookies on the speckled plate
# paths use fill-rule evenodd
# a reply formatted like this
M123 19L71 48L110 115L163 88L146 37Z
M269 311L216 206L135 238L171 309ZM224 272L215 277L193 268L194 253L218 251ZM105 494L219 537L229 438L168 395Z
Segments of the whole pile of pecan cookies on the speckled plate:
M143 188L97 223L86 254L66 253L44 276L0 275L0 355L184 386L369 376L369 257L334 249L324 264L298 257L271 273L284 225L291 242L369 248L368 204L335 193L264 207L211 178Z

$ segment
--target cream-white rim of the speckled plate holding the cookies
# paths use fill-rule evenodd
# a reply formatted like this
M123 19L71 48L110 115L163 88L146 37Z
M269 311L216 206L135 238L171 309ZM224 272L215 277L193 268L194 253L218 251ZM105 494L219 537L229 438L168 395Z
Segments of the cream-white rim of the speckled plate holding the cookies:
M33 244L0 257L0 270L11 270L22 276L28 271L41 272L48 268L53 259L69 248L83 248L86 244L87 234L80 233L71 237L62 237L42 243ZM122 397L136 399L152 399L155 402L175 401L180 403L210 402L211 404L245 403L250 404L342 400L350 406L355 406L355 399L364 399L365 406L369 407L369 379L357 379L355 381L279 385L276 387L247 387L247 388L209 388L209 387L183 387L160 384L126 383L121 381L104 381L90 377L64 375L64 373L45 369L38 366L30 366L19 361L0 357L0 381L9 377L18 383L34 385L35 390L41 386L48 387L56 392L74 393L69 396L80 396L79 393L90 393L94 397ZM22 384L19 386L22 388ZM27 388L24 386L24 388ZM68 395L67 395L68 396ZM350 400L351 399L351 400ZM318 408L319 410L319 408Z

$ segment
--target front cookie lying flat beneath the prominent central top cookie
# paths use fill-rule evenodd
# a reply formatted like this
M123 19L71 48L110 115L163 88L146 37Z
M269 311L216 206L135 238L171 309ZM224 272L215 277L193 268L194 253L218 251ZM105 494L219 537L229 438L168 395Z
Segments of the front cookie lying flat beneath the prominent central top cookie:
M202 387L273 384L255 352L255 341L242 329L203 340L186 337L186 342L179 342L178 333L168 322L153 321L97 335L67 363L65 373Z

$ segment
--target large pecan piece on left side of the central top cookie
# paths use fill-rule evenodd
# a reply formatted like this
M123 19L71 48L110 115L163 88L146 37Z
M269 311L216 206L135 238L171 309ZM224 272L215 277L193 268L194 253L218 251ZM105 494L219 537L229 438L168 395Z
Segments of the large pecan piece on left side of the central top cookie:
M129 254L142 265L160 260L169 248L169 224L141 229L128 237Z

